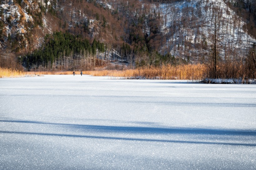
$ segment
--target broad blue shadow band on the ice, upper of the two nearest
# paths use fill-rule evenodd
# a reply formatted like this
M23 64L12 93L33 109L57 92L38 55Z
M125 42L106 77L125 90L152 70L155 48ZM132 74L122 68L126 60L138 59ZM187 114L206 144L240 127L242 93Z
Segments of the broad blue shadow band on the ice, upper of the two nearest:
M0 122L61 125L61 126L69 126L72 128L80 128L80 129L84 129L84 130L96 130L97 132L256 136L255 130L235 130L235 129L225 130L225 129L181 128L181 127L160 128L160 127L78 125L78 124L50 123L50 122L26 121L26 120L0 120Z

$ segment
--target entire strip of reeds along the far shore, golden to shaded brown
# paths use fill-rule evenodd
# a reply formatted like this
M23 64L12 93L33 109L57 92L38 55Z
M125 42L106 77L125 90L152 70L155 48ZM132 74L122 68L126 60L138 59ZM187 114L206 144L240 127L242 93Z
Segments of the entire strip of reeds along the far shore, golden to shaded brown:
M92 76L111 76L114 78L128 79L162 79L162 80L192 80L200 81L205 78L256 78L256 71L250 71L243 63L219 64L216 73L212 65L206 64L187 64L187 65L164 65L161 67L137 68L127 70L95 70L82 71L83 74ZM18 77L22 75L72 75L73 71L43 71L43 72L22 72L0 68L0 78ZM76 71L80 74L80 71ZM216 76L215 76L216 75Z

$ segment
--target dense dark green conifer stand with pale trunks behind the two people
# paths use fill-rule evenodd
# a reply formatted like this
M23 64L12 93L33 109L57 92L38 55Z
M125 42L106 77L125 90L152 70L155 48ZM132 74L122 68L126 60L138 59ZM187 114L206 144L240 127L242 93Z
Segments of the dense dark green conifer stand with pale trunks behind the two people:
M31 69L85 69L95 64L96 53L103 53L104 43L89 40L68 32L54 32L45 36L41 48L22 56L19 62Z

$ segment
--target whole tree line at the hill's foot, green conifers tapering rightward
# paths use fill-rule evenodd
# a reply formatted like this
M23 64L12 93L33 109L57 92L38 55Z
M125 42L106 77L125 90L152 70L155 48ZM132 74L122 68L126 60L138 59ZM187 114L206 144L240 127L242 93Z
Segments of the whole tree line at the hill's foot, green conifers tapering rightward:
M136 67L160 66L163 64L185 64L185 60L176 59L170 53L161 55L145 46L144 50L132 49L127 43L122 46L110 46L94 39L88 39L68 32L54 32L45 36L41 48L18 58L27 70L89 70L103 66L104 62L119 60L134 63ZM131 68L132 65L130 65Z

